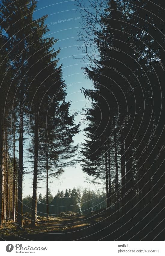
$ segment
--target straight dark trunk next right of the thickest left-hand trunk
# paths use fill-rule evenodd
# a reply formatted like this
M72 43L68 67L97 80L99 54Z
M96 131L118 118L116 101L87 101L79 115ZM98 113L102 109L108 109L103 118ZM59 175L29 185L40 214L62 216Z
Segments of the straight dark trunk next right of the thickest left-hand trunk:
M38 175L38 112L35 112L35 161L33 174L33 195L32 195L32 226L37 225L36 219L36 201L37 201L37 175Z

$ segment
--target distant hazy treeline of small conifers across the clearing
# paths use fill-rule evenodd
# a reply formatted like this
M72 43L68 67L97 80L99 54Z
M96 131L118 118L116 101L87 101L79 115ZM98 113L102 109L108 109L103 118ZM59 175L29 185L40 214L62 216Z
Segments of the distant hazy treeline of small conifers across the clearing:
M90 190L84 188L80 191L79 188L73 188L72 190L66 189L65 192L59 191L52 196L49 190L49 215L57 215L61 212L72 211L75 213L88 214L91 211L95 211L106 207L106 194L104 190ZM31 213L32 197L26 196L23 199L23 213ZM37 215L46 216L46 195L41 193L37 198Z

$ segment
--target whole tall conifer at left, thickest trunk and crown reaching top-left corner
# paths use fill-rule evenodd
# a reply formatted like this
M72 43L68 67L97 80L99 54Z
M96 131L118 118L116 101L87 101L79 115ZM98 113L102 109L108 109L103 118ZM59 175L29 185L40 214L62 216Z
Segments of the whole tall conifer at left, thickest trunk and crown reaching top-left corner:
M24 5L24 8L19 8ZM27 5L27 1L16 1L10 5L10 1L1 1L1 27L8 27L8 36L10 38L10 47L14 51L12 65L17 68L19 75L19 170L18 170L18 206L17 222L18 228L22 228L22 179L23 179L23 125L24 125L24 93L26 89L26 68L27 65L27 47L33 42L33 18L32 13L36 8L36 1ZM13 54L13 51L11 53Z

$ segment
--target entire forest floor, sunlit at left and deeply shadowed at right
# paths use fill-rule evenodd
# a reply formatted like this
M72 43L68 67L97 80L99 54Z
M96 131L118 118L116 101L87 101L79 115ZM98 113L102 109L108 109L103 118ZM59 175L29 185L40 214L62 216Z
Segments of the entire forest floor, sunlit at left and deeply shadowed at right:
M145 227L125 221L104 212L97 215L68 214L55 217L38 217L38 224L31 227L30 219L24 218L24 229L16 229L12 221L0 228L0 241L163 241L165 239L161 226L153 230L151 225ZM135 226L134 226L135 225ZM155 225L156 226L156 225ZM155 238L156 233L158 236ZM146 234L146 236L145 236ZM155 238L155 239L154 239Z

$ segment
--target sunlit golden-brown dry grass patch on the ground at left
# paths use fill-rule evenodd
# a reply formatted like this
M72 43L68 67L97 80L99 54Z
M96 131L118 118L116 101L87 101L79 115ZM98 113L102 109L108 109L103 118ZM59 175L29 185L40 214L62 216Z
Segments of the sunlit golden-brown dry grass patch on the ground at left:
M85 227L90 226L94 221L98 222L102 217L94 220L93 218L89 218L89 216L85 215L77 215L77 214L61 214L56 217L49 217L46 219L45 217L38 217L37 226L31 226L31 220L27 217L23 218L23 227L24 229L17 229L16 225L14 225L13 221L9 221L8 223L4 223L2 227L0 227L0 237L5 238L7 236L21 236L27 237L30 235L38 234L38 233L62 233L69 232L78 229L83 229ZM15 221L16 223L16 221ZM39 235L39 234L38 234Z

